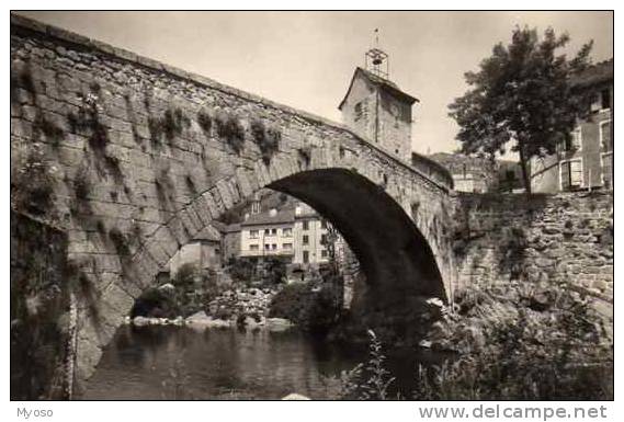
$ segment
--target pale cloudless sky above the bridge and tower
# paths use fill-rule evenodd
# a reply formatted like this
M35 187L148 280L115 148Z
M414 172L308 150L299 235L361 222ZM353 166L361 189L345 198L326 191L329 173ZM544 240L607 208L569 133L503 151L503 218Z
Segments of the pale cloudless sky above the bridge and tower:
M418 98L412 148L453 151L447 105L515 25L568 32L613 57L612 12L21 12L20 14L340 122L338 104L379 31L389 79Z

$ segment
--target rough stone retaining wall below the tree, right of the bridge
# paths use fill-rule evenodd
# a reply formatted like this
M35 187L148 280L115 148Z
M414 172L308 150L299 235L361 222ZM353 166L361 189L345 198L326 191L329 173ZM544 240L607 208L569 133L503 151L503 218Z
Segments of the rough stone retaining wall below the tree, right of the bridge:
M613 193L457 197L460 286L564 283L613 301Z

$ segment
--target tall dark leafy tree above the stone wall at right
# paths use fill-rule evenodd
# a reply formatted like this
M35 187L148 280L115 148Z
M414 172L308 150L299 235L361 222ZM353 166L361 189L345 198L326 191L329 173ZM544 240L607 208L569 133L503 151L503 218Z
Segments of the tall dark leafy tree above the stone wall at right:
M557 50L569 42L535 28L515 27L511 44L495 45L478 72L466 72L472 88L449 105L460 125L456 138L462 152L486 156L511 150L520 156L526 192L531 192L529 160L556 152L569 140L578 118L589 114L588 92L575 90L571 78L588 68L593 42L585 44L574 59Z

